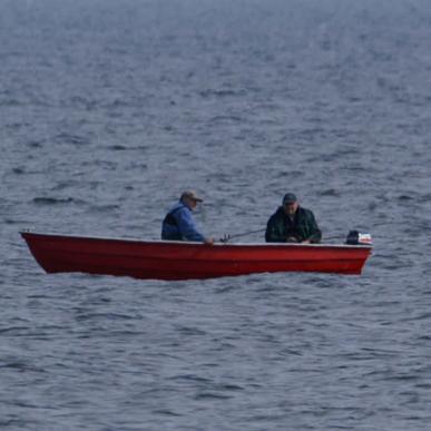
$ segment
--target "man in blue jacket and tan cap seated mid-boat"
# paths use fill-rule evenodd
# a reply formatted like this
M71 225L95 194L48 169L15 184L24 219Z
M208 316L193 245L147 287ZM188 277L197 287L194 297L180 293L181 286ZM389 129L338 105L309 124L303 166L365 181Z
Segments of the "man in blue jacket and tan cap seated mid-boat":
M168 212L161 224L161 239L167 241L195 241L213 244L214 239L204 236L196 227L192 212L200 197L193 190L186 190Z

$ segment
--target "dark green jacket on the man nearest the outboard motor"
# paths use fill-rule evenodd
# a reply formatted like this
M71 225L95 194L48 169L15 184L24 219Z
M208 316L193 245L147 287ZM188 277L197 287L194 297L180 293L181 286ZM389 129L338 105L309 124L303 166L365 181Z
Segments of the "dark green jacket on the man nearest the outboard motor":
M270 217L265 233L267 243L285 243L292 236L300 243L305 239L312 243L321 242L322 232L310 209L298 206L293 222L282 206Z

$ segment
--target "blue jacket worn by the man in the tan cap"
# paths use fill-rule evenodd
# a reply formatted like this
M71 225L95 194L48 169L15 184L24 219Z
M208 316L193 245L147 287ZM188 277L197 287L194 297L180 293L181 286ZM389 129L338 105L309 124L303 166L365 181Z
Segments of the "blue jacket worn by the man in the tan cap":
M161 239L204 242L205 237L196 227L192 209L179 200L163 221Z

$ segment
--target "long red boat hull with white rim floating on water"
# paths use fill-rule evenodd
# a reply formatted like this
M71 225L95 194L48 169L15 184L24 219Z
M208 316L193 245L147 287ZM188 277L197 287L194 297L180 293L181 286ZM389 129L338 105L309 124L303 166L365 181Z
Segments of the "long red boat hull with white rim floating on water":
M364 245L215 244L115 239L22 232L47 273L136 278L210 278L286 271L361 274Z

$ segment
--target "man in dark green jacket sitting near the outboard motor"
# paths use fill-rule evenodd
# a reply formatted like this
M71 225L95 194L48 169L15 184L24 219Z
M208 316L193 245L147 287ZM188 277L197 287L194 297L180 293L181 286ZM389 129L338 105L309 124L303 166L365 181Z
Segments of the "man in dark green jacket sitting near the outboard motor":
M283 205L270 217L266 225L267 243L320 243L322 232L313 213L301 207L293 193L284 195Z

